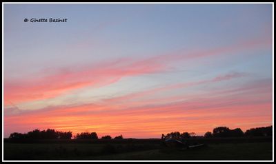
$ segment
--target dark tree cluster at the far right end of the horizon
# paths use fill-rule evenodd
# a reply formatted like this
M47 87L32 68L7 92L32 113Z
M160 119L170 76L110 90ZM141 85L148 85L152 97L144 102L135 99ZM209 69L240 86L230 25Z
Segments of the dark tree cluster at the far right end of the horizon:
M244 133L245 136L272 136L272 134L272 126L252 128Z

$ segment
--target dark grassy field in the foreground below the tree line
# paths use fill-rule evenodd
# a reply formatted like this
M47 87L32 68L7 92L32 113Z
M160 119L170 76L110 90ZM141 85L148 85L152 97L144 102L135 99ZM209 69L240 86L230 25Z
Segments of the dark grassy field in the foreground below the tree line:
M272 160L270 139L208 139L179 150L160 140L4 142L4 160Z

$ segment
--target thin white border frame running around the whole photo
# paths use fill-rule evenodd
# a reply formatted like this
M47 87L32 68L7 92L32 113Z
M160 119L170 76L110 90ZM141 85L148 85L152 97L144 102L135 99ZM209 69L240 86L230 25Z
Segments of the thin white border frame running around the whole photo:
M4 108L4 102L3 102L3 35L4 35L4 26L3 26L3 19L4 19L4 4L29 4L29 3L34 3L34 2L2 2L2 162L64 162L64 161L4 161L4 156L3 156L3 108ZM56 4L56 3L59 3L59 4L79 4L77 2L37 2L37 4ZM274 3L273 2L148 2L148 3L145 3L145 2L80 2L82 4L90 4L90 3L93 3L93 4L254 4L254 3L257 3L257 4L272 4L273 5L273 68L274 68ZM273 91L274 91L274 69L273 69ZM274 161L274 92L273 92L273 160L272 161L262 161L262 162L273 162ZM70 161L70 160L68 160ZM97 161L97 160L96 160ZM72 161L72 162L90 162L90 161ZM128 161L128 160L124 160L124 161L120 161L120 160L113 160L113 161L97 161L97 162L137 162L137 161ZM168 161L141 161L141 162L168 162ZM170 162L182 162L182 161L170 161ZM184 161L184 162L228 162L228 161ZM261 161L235 161L235 162L261 162Z

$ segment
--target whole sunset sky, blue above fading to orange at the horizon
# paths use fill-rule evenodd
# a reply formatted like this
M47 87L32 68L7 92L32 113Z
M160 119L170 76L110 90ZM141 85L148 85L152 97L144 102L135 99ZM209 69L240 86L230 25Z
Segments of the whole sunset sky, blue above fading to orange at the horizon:
M273 4L3 9L4 137L52 128L160 138L273 123Z

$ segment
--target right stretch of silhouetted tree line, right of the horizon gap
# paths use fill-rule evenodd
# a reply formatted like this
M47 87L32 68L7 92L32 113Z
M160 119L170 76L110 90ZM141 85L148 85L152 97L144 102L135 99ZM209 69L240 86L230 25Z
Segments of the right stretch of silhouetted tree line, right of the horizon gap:
M241 137L241 136L272 136L273 134L273 127L255 127L251 128L250 130L246 130L243 132L240 128L235 128L230 130L229 127L215 127L213 132L206 132L204 136L196 136L194 132L170 132L168 134L161 134L161 139L189 139L195 137Z

